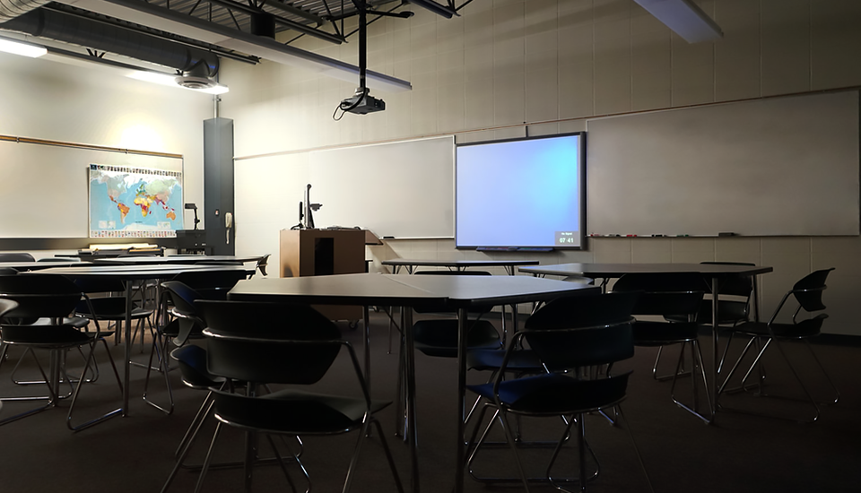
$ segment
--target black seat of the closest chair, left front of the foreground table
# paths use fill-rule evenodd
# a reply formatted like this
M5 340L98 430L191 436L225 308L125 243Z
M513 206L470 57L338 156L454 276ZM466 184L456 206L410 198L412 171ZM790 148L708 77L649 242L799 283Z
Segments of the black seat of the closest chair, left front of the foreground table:
M372 400L370 411L391 402ZM367 405L362 398L282 390L262 397L215 391L215 414L231 426L268 433L340 433L361 426Z

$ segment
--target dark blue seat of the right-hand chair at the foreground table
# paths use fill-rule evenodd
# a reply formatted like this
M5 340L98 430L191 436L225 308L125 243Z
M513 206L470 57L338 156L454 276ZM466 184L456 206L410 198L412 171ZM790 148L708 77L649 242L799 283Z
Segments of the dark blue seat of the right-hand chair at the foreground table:
M578 380L562 374L545 374L500 382L500 401L510 411L568 414L596 411L625 398L631 372L612 378ZM467 385L484 398L494 399L493 384Z

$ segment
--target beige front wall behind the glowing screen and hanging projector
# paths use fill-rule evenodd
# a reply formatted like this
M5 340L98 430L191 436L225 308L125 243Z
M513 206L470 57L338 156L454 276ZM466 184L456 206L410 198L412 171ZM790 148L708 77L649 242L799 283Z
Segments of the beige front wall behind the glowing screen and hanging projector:
M384 112L332 119L355 84L264 62L227 62L222 116L235 120L236 154L303 151L347 143L456 134L457 142L585 129L585 119L735 99L861 85L861 3L854 0L697 2L723 28L716 43L689 45L631 0L474 0L463 16L413 9L411 20L370 27L369 67L413 82L384 93ZM357 60L344 46L301 39L302 48ZM238 166L241 161L238 161ZM298 184L303 186L304 184ZM290 186L290 184L285 184ZM242 197L253 188L237 189ZM294 207L281 224L296 222ZM239 219L239 218L238 218ZM277 221L276 221L277 222ZM277 227L238 229L238 253L277 246ZM861 239L600 238L587 251L541 255L561 262L700 262L771 265L761 278L762 307L807 272L837 267L826 301L826 332L861 335ZM483 258L451 240L392 241L369 258ZM499 255L493 255L494 258ZM275 258L273 259L276 260Z

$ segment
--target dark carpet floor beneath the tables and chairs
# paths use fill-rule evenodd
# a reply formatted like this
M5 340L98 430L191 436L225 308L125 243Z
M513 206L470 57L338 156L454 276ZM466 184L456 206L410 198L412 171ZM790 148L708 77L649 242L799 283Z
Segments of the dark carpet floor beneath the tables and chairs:
M397 351L387 354L388 324L380 314L372 317L372 394L393 400L396 389ZM360 332L345 324L344 337L351 340L361 354ZM705 338L708 339L708 338ZM709 349L704 341L704 350ZM800 361L805 382L814 394L824 399L828 387L814 371L804 347L788 344L791 357ZM117 361L122 346L111 348ZM813 424L792 420L763 418L743 413L723 411L712 425L706 425L670 400L670 383L651 378L650 369L655 350L639 348L633 359L619 365L616 371L633 368L629 397L623 411L630 420L631 430L648 470L648 477L657 492L857 492L861 491L861 348L837 344L816 344L814 350L822 358L842 393L840 402L822 407L822 417ZM777 358L768 362L769 390L775 393L800 395ZM9 376L13 363L21 354L11 351L11 358L0 368L0 393L10 395L16 388ZM144 361L148 354L135 351L135 359ZM675 350L665 354L677 354ZM672 358L665 358L669 363ZM71 361L74 358L70 357ZM100 361L104 353L100 352ZM420 444L420 484L422 491L448 492L454 484L456 469L455 445L455 385L457 368L452 359L417 357L418 430ZM118 404L118 391L109 375L108 366L100 366L99 382L84 387L80 410L82 419L93 413L108 411ZM668 368L668 367L667 367ZM180 437L194 416L204 394L184 387L178 371L170 374L176 398L176 411L166 416L141 400L143 368L132 367L132 403L129 416L117 417L94 428L72 433L65 427L68 402L58 409L41 412L0 428L0 492L27 493L64 491L67 493L125 492L152 493L161 490L173 466L173 452ZM346 359L321 384L329 390L350 388L352 379ZM33 366L23 365L19 376L33 376ZM480 382L486 376L471 375L470 381ZM679 394L690 399L690 378L682 381ZM166 393L162 380L154 379L150 397L164 402ZM38 389L27 389L27 392ZM726 395L722 404L749 411L767 411L784 416L804 417L810 407L803 403L774 400L751 394ZM5 402L0 416L8 416L30 404ZM77 419L76 416L76 419ZM394 406L379 413L387 431L397 469L404 482L410 478L409 455L403 442L395 437ZM646 478L639 469L631 442L624 428L612 427L599 415L586 419L587 437L601 464L599 477L589 483L595 492L648 491ZM200 463L212 437L212 424L204 429L189 461ZM560 419L525 419L522 423L526 439L556 439L561 433ZM305 437L303 461L314 481L313 491L340 491L344 474L356 443L355 433L335 437ZM216 445L216 460L240 460L243 436L228 429ZM271 454L267 445L261 454ZM530 448L521 457L531 474L542 474L549 449ZM576 448L566 446L554 470L555 475L576 474ZM291 477L301 483L295 464L289 465ZM507 448L489 448L476 459L477 474L513 475L516 471ZM197 473L180 471L170 491L193 491ZM255 491L290 491L278 467L262 466L255 470ZM519 483L486 485L467 476L467 492L520 491ZM553 489L535 485L537 492ZM210 471L203 491L234 492L243 490L243 475L239 469ZM352 491L356 493L396 491L387 469L378 434L365 442L361 451L359 471Z

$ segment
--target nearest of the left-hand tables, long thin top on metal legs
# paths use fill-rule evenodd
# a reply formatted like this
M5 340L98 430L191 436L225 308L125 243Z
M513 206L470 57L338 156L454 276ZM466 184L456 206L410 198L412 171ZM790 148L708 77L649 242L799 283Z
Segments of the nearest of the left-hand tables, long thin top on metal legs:
M246 271L253 274L254 270L248 270L242 265L221 264L172 264L172 265L78 265L74 267L53 267L39 271L22 272L22 274L39 275L41 273L60 274L69 279L107 278L122 281L126 288L126 320L125 330L125 361L123 363L123 416L128 416L129 396L129 367L132 358L132 287L135 281L153 281L170 279L180 272L224 272L224 271Z

